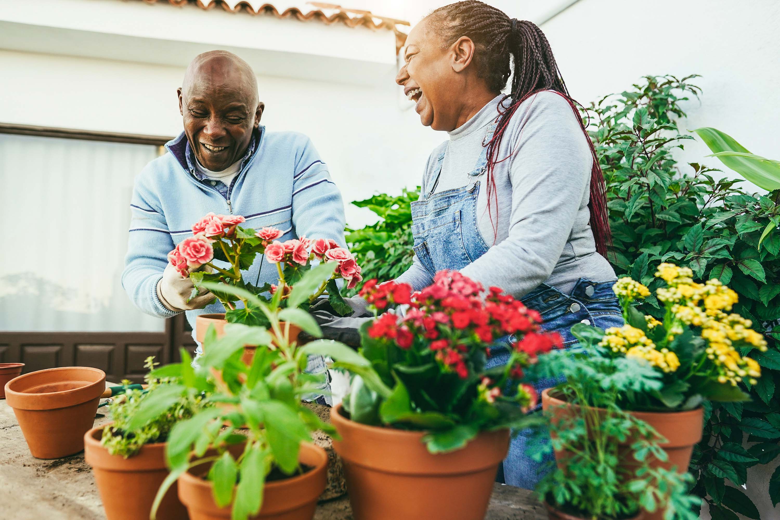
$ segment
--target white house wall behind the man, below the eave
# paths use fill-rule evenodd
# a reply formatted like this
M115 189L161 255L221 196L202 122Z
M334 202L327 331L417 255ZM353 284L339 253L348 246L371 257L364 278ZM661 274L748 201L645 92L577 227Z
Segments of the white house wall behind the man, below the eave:
M154 135L182 130L180 67L0 50L0 70L0 122ZM389 70L374 86L257 77L262 122L311 137L342 189L352 226L373 214L349 201L415 186L428 154L446 138L420 125L393 77Z

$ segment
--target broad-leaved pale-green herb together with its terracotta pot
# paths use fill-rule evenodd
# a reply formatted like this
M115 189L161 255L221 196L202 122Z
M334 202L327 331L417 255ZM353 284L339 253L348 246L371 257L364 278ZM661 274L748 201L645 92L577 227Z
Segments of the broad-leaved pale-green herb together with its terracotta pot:
M246 289L225 288L263 313L269 329L228 324L218 338L211 327L199 366L183 359L158 369L180 377L183 388L205 392L207 402L218 404L173 426L166 451L171 473L158 491L158 501L178 479L179 498L190 518L313 517L326 484L328 455L311 444L311 433L334 430L301 402L321 387L324 378L324 374L303 371L307 358L328 355L350 366L369 364L335 341L301 346L291 338L293 325L321 337L314 318L294 303L331 280L335 267L321 264L303 274L289 292L293 305L282 310L278 308L281 291L264 302ZM211 290L211 285L204 286ZM246 344L258 345L250 365L242 360ZM210 377L211 370L219 377ZM147 407L166 408L173 399L165 394L151 396Z

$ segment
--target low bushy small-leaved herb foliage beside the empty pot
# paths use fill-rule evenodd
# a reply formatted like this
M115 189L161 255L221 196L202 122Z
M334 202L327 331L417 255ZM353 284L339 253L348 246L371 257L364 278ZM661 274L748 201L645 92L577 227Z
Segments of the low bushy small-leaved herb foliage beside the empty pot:
M152 370L154 357L148 357L144 367ZM179 421L190 419L194 413L204 408L200 394L176 394L176 398L165 401L167 408L158 408L154 414L138 415L139 409L147 409L144 403L157 401L170 392L171 385L179 381L176 377L154 377L151 373L144 376L148 387L144 390L131 389L115 398L110 411L112 423L103 429L101 444L111 455L132 457L144 444L165 442L171 428ZM129 385L129 381L122 381Z

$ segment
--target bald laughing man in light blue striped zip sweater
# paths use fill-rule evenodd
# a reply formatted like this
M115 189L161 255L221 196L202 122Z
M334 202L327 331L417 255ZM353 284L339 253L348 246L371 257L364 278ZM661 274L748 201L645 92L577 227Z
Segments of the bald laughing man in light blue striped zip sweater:
M249 65L227 51L197 56L179 92L184 131L138 175L130 204L129 245L122 286L145 313L225 312L210 293L190 299L189 278L167 255L209 211L239 214L246 227L344 243L344 207L311 141L300 133L266 131L264 103ZM275 282L276 267L258 257L244 279ZM205 307L204 307L205 306ZM194 327L193 327L194 328Z

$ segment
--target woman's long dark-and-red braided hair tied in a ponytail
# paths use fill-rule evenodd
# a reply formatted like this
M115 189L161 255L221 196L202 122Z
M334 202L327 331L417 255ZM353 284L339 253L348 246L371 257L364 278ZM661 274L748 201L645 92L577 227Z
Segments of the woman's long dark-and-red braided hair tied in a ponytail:
M583 135L590 147L593 167L590 171L590 227L596 241L596 250L606 256L607 246L612 243L607 214L607 196L604 175L601 172L596 150L575 106L576 101L569 96L566 83L552 55L552 49L541 29L532 22L509 18L505 12L479 0L464 0L445 5L426 17L431 27L442 39L442 48L454 44L459 37L470 37L474 43L474 64L477 76L487 83L494 92L501 92L512 75L510 57L514 65L512 87L498 104L498 125L488 147L488 213L491 213L491 198L498 206L495 189L495 165L509 157L498 159L505 131L517 108L523 101L542 90L552 90L569 102ZM511 98L511 104L505 108L503 101ZM497 234L497 224L494 231Z

